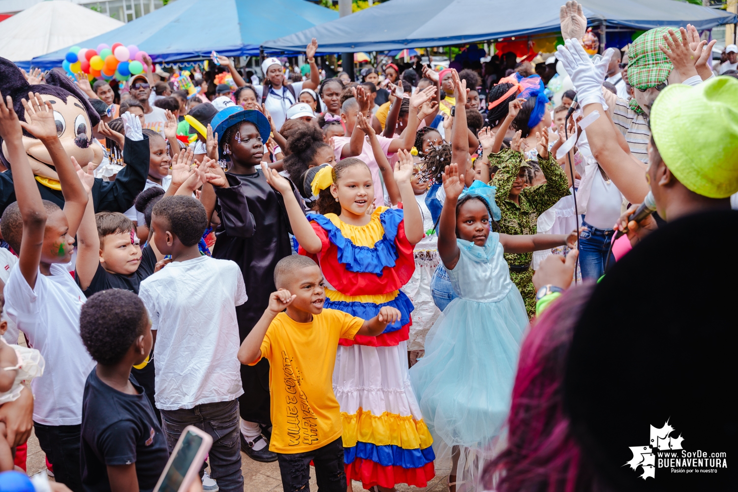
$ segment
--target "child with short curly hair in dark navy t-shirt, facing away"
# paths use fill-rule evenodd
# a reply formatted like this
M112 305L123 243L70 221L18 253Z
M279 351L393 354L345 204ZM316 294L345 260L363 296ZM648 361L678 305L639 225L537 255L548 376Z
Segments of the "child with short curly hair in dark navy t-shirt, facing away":
M148 312L133 292L98 292L82 307L80 336L97 362L82 402L84 489L151 491L169 451L154 406L131 375L154 344Z

